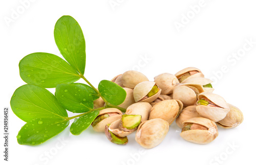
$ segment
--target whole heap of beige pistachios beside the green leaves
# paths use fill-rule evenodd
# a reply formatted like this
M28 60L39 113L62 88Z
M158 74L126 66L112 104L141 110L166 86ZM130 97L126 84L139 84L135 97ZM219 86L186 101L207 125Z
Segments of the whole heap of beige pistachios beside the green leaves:
M92 123L97 132L116 144L128 142L127 135L135 132L135 140L144 148L159 145L169 126L176 120L182 129L180 136L189 142L207 144L218 136L222 128L237 127L243 122L239 108L212 93L211 80L194 67L185 68L175 75L162 73L149 81L138 71L126 71L112 79L126 91L126 99L117 108L100 111ZM104 106L99 98L94 108Z

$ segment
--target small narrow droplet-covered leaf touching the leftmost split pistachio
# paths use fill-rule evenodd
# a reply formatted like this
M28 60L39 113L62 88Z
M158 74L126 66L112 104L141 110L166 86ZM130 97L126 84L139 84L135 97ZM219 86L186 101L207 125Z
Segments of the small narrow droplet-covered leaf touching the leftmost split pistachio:
M70 132L74 135L79 135L82 131L86 130L94 121L94 119L99 115L99 111L92 111L85 114L75 121L70 126Z

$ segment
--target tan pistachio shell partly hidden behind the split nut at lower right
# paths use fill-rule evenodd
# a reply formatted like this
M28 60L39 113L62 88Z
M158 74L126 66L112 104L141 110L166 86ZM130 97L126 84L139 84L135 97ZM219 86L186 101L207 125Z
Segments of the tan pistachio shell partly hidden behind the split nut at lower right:
M202 117L202 116L198 114L198 112L196 110L196 105L187 106L182 110L182 112L176 119L176 124L178 125L178 127L183 128L182 123L184 121L191 119L191 118L197 118L197 117Z

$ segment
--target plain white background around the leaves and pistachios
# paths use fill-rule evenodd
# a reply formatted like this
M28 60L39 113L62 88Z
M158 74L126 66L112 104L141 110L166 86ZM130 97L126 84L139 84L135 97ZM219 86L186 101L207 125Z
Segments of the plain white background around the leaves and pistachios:
M29 4L22 5L22 2ZM1 1L1 109L10 108L13 92L25 84L18 70L23 57L33 52L61 57L54 42L54 25L62 15L71 15L79 22L86 39L85 76L94 86L126 70L139 70L154 80L160 73L175 74L193 66L215 80L215 93L238 106L244 122L233 129L219 127L219 136L207 145L184 141L179 135L181 129L173 123L164 141L150 150L136 143L135 133L128 137L127 145L119 146L109 142L103 133L94 132L92 127L79 136L70 135L68 127L46 143L31 147L17 143L16 135L25 122L10 108L9 161L3 160L4 139L1 138L1 164L205 165L243 164L245 160L254 163L256 2L113 2L118 6L111 6L109 0ZM196 5L201 7L195 13L191 7ZM10 19L8 23L6 20ZM180 28L175 23L180 23ZM249 41L254 43L249 46ZM240 56L232 57L237 52Z

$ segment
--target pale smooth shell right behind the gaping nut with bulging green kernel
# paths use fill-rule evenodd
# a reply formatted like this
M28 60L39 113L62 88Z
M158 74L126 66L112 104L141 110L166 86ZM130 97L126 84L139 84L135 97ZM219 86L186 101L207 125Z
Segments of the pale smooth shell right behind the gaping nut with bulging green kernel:
M148 102L136 102L127 107L125 114L141 115L141 122L148 120L152 106Z

